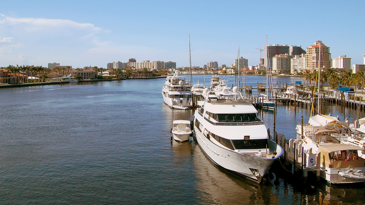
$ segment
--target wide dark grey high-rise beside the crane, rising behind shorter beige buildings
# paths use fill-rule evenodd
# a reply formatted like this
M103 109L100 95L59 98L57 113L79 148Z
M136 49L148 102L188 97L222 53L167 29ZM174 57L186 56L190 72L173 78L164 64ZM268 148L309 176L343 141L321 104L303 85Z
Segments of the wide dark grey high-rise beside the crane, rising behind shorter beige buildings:
M289 55L300 55L306 53L301 46L288 46L288 45L268 45L264 48L264 55L265 55L265 67L272 67L272 59L275 55L279 54L289 54ZM269 57L268 57L269 55ZM269 64L268 64L269 63Z

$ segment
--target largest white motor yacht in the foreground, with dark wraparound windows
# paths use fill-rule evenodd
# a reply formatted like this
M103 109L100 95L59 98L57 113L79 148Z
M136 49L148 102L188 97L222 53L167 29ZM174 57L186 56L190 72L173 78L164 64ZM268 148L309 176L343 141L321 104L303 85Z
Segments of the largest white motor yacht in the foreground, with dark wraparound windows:
M194 113L193 131L200 148L215 164L260 183L283 148L269 139L257 110L250 100L243 100L238 87L205 88L203 96L215 97L198 101Z

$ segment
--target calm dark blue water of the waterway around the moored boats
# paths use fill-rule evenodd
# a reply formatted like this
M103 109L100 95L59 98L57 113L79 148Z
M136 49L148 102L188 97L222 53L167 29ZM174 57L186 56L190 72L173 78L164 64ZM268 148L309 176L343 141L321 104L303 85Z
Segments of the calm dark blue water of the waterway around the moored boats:
M233 78L226 77L230 84ZM304 185L280 164L258 185L215 166L193 140L171 142L172 121L192 119L193 111L163 103L164 81L1 89L1 204L365 203L364 186ZM266 77L246 77L247 84L257 82ZM342 119L356 114L327 109ZM302 115L307 121L308 112L278 105L276 131L294 138L295 124ZM272 130L273 113L259 116Z

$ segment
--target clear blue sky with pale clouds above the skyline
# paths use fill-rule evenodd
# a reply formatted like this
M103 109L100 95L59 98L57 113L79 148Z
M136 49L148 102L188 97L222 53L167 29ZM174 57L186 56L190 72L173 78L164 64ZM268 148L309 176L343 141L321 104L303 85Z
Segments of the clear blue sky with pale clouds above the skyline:
M1 1L0 66L57 62L259 63L268 44L304 49L316 40L333 58L363 64L365 1Z

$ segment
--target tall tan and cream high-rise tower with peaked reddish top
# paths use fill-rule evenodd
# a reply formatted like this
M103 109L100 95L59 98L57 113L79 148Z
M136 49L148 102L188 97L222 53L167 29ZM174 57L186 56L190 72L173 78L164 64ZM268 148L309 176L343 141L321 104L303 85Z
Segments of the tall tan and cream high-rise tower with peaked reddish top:
M309 47L307 47L305 70L310 70L311 72L313 72L314 70L318 69L319 46L321 54L320 67L324 69L328 69L331 67L330 47L325 46L322 41L317 40L314 45L310 45Z

